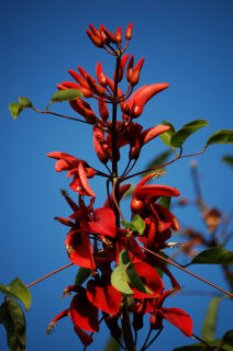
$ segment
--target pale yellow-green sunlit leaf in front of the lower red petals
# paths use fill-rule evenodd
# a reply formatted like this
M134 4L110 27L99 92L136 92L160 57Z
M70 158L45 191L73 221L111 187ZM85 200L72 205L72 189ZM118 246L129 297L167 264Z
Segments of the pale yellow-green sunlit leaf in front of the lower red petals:
M127 284L124 265L119 264L114 268L111 274L111 284L122 294L133 295L133 291L130 288L130 285Z

